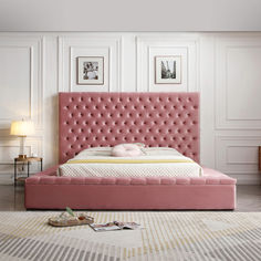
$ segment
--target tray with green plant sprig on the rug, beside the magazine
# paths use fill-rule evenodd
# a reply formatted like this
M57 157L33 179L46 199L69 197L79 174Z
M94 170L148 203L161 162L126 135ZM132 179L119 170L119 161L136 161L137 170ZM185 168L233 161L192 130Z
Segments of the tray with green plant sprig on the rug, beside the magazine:
M71 227L93 223L94 218L87 216L86 213L74 213L71 208L66 207L65 212L50 218L48 222L53 227Z

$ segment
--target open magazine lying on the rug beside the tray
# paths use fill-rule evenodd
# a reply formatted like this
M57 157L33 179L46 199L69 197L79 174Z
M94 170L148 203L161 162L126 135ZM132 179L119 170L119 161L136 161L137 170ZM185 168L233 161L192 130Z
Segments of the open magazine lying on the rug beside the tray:
M114 230L123 230L123 229L142 229L139 223L136 222L107 222L107 223L90 223L90 227L97 232L102 231L114 231Z

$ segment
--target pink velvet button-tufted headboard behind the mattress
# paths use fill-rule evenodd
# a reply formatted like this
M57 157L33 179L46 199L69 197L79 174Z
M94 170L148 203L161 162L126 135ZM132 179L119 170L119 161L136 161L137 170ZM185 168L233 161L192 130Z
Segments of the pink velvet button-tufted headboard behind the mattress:
M198 93L60 93L59 161L88 147L166 146L199 161Z

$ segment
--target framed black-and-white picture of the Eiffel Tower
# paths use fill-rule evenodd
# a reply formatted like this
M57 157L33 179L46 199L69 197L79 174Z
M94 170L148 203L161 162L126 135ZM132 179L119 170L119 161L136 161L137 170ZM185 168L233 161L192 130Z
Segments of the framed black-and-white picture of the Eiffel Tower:
M181 83L181 56L155 56L155 83Z

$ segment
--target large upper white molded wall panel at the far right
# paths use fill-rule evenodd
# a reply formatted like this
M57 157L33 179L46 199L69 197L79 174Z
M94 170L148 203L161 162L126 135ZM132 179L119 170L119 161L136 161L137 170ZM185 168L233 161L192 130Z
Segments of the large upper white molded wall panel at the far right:
M215 56L216 128L261 129L261 35L217 38Z

